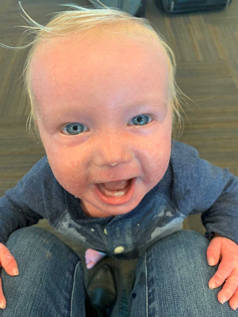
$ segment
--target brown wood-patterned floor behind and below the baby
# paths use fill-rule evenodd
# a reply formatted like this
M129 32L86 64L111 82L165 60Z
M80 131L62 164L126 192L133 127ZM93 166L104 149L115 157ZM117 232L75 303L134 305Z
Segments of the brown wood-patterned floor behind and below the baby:
M102 0L103 1L103 0ZM23 9L38 23L47 23L47 14L68 10L53 0L24 0ZM74 1L90 5L88 1ZM20 45L26 25L16 0L0 3L0 42ZM238 3L219 11L169 15L148 0L145 18L165 36L177 61L177 84L192 100L185 100L184 132L179 141L194 146L202 159L229 170L238 176ZM22 44L23 45L23 44ZM0 197L14 187L30 168L45 155L41 146L33 143L26 133L30 103L24 94L23 66L29 48L15 51L0 47ZM183 102L184 104L185 102ZM201 215L189 216L184 228L205 232ZM36 226L50 230L67 243L84 260L84 248L65 239L46 220ZM137 260L102 260L112 266L118 288L113 316L129 315L127 298L134 280ZM101 262L101 263L102 263ZM100 265L101 265L100 263ZM85 270L85 283L96 268ZM129 287L129 286L130 287Z

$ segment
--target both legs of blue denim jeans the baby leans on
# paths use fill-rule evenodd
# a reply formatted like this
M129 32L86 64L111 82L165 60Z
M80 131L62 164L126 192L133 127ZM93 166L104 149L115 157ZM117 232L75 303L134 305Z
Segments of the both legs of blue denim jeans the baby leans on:
M192 230L161 239L139 259L128 299L130 317L238 316L217 294L223 284L208 288L218 264L209 267L209 240ZM26 227L6 243L16 258L19 275L0 269L7 306L1 317L87 317L83 263L76 253L49 231ZM86 305L87 306L87 305Z

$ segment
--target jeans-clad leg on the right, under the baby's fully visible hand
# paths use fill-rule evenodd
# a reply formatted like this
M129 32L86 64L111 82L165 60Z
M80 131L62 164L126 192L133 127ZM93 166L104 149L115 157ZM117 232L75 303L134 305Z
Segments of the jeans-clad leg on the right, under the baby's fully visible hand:
M208 238L193 230L180 230L150 247L136 267L129 297L130 317L234 317L238 311L218 301L208 281L217 265L208 265Z

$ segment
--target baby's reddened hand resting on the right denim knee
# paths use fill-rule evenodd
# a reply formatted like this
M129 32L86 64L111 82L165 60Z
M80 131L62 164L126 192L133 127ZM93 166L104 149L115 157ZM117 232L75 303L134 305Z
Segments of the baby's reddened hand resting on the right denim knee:
M232 240L215 234L207 248L209 265L216 265L221 260L216 273L208 282L213 289L225 282L217 294L218 301L223 304L229 300L232 309L238 307L238 245Z

